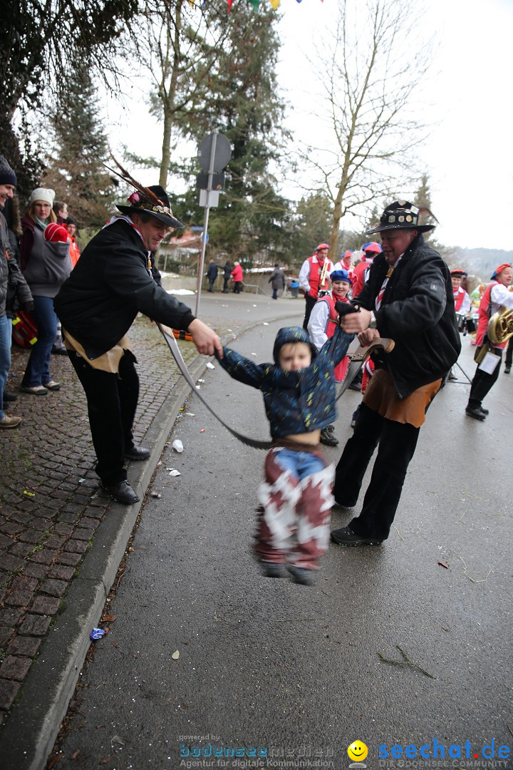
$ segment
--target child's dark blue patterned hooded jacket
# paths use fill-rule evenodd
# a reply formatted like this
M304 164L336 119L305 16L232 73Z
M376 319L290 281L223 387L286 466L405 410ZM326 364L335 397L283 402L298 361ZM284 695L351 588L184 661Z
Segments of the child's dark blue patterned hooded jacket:
M234 380L261 390L272 438L311 433L335 420L335 366L344 358L353 337L338 326L316 354L305 330L299 326L280 329L273 351L275 361L286 343L303 342L312 349L310 366L296 372L285 371L277 363L255 363L229 347L223 348L225 357L218 362Z

